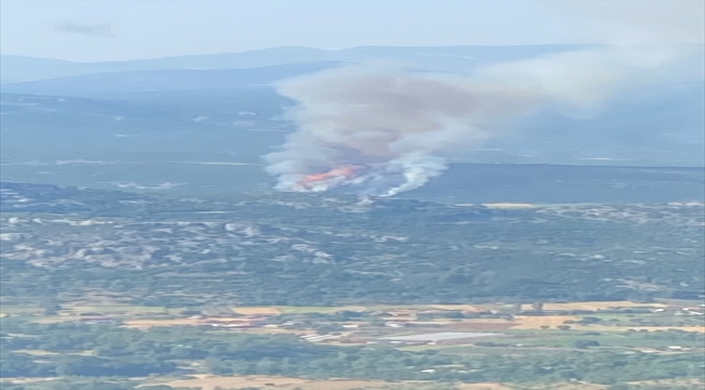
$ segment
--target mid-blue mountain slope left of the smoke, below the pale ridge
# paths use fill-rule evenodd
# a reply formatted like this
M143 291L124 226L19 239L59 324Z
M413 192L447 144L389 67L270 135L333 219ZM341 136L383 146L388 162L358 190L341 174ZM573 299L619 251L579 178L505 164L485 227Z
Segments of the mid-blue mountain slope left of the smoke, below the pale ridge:
M165 94L119 101L2 93L0 154L24 161L258 161L286 130L272 116L287 102L271 90Z

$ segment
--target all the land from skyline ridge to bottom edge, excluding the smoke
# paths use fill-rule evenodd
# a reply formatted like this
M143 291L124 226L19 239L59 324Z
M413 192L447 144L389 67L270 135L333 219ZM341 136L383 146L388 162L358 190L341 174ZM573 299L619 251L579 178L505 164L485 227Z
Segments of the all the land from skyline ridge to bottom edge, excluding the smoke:
M702 81L524 117L394 198L265 173L282 80L588 48L2 55L0 386L702 389Z

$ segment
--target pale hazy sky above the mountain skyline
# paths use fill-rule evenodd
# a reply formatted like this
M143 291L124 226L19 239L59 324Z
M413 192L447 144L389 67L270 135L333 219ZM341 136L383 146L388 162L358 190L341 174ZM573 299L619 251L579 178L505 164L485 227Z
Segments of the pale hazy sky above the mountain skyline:
M702 0L1 0L0 4L2 54L74 61L282 46L702 42L705 35Z

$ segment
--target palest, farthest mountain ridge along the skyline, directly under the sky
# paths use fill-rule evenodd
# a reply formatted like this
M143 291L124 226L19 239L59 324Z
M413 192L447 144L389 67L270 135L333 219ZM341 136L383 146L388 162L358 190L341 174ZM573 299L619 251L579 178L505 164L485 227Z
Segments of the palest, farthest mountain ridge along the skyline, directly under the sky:
M107 72L154 69L240 69L310 62L401 62L421 69L470 72L492 62L528 58L541 54L584 49L585 44L461 46L461 47L357 47L322 50L285 47L241 53L182 55L153 60L79 63L16 55L0 56L3 82L42 80Z

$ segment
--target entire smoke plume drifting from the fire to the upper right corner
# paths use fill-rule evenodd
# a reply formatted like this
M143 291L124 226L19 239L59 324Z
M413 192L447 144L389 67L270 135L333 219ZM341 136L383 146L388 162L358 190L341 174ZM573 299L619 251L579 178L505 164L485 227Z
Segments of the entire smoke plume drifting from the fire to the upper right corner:
M564 11L577 6L600 14L610 8L590 4ZM520 117L550 108L587 118L615 93L640 83L702 80L702 49L671 44L694 39L692 24L702 13L689 17L695 22L683 29L669 16L681 10L669 9L654 22L656 29L642 34L656 10L613 16L631 26L624 30L631 35L615 36L618 44L493 64L472 76L357 65L286 81L279 92L297 102L289 116L298 129L265 157L267 170L282 191L344 186L395 195L440 174L446 152L505 135ZM624 37L641 40L624 44Z

